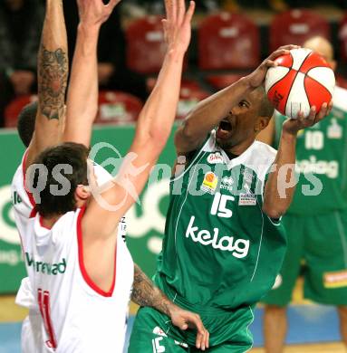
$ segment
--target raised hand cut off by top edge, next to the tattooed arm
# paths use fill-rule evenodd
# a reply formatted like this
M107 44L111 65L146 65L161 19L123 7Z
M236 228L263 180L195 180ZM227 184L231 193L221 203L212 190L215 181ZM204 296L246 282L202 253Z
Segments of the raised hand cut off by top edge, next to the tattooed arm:
M102 0L77 0L80 24L100 26L110 17L114 7L120 0L110 0L104 5Z

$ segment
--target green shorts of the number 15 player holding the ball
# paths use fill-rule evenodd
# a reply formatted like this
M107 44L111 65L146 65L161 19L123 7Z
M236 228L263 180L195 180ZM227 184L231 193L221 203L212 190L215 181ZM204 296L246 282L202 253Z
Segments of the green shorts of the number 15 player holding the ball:
M250 307L214 315L200 313L200 317L210 334L208 352L245 353L252 348L253 338L248 330L253 321ZM195 348L196 338L196 330L182 331L159 311L140 308L131 332L128 352L201 352Z

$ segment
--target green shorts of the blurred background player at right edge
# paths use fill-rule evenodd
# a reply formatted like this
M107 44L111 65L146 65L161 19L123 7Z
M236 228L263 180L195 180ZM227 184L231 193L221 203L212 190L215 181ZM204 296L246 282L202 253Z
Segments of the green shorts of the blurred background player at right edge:
M304 298L347 305L347 211L308 217L285 215L283 223L287 253L273 290L262 301L287 305L304 261Z

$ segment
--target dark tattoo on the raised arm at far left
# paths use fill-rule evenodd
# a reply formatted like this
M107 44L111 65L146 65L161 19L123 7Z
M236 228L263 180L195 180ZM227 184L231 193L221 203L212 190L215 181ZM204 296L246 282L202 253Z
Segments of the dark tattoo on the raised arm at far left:
M48 51L42 44L39 52L38 91L40 107L47 119L62 116L68 74L67 53L59 48Z

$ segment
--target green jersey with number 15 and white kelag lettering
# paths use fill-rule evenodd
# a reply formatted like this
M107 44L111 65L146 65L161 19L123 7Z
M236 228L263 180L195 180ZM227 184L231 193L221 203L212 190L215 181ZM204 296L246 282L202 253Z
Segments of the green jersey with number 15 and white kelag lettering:
M156 281L199 310L253 305L281 268L284 230L262 212L265 176L276 151L255 141L229 159L215 131L185 171L171 179Z

